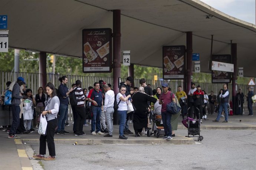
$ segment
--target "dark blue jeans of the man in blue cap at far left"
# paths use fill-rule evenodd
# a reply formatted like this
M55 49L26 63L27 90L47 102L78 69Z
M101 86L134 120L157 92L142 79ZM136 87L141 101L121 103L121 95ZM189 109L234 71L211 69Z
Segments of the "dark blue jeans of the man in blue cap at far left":
M20 106L11 105L11 107L12 107L13 122L12 122L9 135L14 135L20 124Z

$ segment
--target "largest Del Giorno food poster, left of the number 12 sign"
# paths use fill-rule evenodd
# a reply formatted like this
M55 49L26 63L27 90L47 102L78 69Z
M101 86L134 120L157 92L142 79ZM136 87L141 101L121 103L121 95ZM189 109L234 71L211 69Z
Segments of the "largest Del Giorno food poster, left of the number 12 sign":
M111 72L112 63L111 28L84 29L83 72Z

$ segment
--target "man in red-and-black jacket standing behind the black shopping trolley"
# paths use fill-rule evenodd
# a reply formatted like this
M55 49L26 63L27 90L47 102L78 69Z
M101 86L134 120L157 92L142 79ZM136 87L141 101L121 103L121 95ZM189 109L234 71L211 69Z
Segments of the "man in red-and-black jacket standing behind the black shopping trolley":
M204 92L201 91L201 86L197 86L197 90L193 93L194 106L196 107L196 117L199 119L200 112L200 121L203 122L203 107L204 107ZM199 110L198 110L199 109Z

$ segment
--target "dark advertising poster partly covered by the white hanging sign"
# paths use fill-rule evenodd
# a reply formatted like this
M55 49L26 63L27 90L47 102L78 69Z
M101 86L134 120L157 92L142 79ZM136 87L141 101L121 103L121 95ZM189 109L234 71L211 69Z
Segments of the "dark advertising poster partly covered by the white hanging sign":
M213 55L212 61L231 63L231 55L229 55L229 54ZM211 82L212 83L230 83L231 82L231 74L232 74L232 72L212 70L211 71Z

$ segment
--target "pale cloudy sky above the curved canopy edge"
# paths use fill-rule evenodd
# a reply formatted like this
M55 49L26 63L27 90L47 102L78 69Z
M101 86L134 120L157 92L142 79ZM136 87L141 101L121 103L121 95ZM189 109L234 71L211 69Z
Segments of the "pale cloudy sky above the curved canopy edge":
M255 24L255 0L200 0L232 17Z

